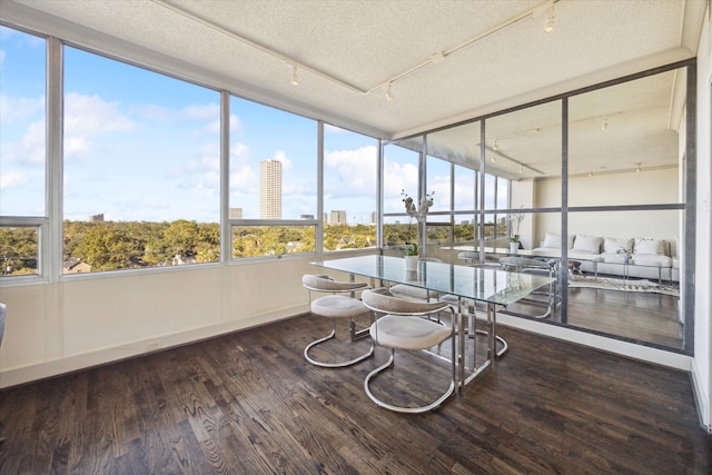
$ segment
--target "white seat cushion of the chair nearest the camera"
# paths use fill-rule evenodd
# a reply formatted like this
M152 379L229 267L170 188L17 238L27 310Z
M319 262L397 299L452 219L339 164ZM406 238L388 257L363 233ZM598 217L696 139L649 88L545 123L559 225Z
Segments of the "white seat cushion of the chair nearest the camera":
M452 329L419 317L385 315L370 325L370 337L383 346L398 349L423 349L442 343Z

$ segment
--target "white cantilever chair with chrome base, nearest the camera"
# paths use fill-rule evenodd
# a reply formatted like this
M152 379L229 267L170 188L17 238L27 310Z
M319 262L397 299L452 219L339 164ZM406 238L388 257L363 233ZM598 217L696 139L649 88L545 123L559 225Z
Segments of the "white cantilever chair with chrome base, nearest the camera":
M455 370L455 313L451 305L444 301L414 301L394 297L386 288L366 290L362 295L366 307L376 314L370 325L370 337L376 345L390 348L388 360L368 373L364 382L364 389L376 405L398 413L425 413L439 407L455 390L457 385ZM451 314L451 325L441 325L429 320L433 314L447 311ZM395 350L423 350L432 348L451 339L451 377L448 388L434 402L423 406L402 406L386 403L376 397L370 389L372 380L382 372L394 365Z

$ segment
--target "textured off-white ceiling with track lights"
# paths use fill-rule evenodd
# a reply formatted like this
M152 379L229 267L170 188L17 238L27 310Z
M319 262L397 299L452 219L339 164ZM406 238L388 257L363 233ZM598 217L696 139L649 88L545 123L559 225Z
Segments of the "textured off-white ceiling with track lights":
M555 29L545 33L550 4L2 0L0 16L267 105L397 138L691 58L694 44L684 43L683 31L698 24L705 2L560 0ZM298 86L290 82L295 65ZM664 87L673 83L668 78ZM661 113L670 115L670 92L665 100ZM590 106L601 110L587 117L624 108Z

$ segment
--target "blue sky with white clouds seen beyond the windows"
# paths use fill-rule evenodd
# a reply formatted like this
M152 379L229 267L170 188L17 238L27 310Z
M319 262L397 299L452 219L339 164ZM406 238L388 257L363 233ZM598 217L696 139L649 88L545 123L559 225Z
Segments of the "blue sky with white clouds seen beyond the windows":
M44 41L0 34L0 214L44 216ZM65 65L65 219L218 221L219 93L71 47ZM230 206L259 218L259 161L278 159L283 218L316 215L316 121L233 97ZM417 190L417 157L395 149L387 147L386 212L403 210L402 189ZM368 222L376 156L375 139L326 127L325 212ZM448 205L442 165L428 168L434 209Z

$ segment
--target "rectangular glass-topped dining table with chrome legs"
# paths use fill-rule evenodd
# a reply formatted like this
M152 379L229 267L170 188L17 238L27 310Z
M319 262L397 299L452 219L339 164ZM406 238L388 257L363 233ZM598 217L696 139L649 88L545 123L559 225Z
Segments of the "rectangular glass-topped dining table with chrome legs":
M356 276L368 277L372 287L389 287L393 284L406 284L413 287L437 293L457 306L457 368L458 385L462 388L477 378L485 369L492 368L497 357L496 352L496 311L497 307L506 307L528 296L534 290L550 285L554 279L531 274L506 271L492 267L471 267L456 264L419 260L416 270L406 270L405 259L400 257L368 255L345 257L312 263L315 266L348 273L352 280ZM442 298L442 297L441 297ZM476 318L469 318L469 328L465 328L465 319L474 304L486 305L486 359L475 364ZM473 310L474 311L474 310ZM473 338L473 364L466 367L465 334ZM506 345L506 343L505 343ZM466 372L468 373L466 375Z

